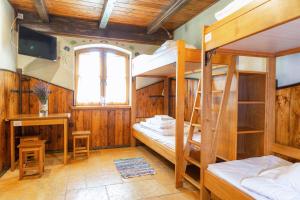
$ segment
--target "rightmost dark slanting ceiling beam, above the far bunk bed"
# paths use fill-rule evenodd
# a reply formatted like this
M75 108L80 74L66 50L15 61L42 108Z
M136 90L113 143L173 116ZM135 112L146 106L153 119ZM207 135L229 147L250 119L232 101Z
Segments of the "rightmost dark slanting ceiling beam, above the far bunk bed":
M166 22L172 15L174 15L182 6L184 6L190 0L176 0L174 3L165 9L157 18L155 18L148 26L147 33L155 33L164 22Z

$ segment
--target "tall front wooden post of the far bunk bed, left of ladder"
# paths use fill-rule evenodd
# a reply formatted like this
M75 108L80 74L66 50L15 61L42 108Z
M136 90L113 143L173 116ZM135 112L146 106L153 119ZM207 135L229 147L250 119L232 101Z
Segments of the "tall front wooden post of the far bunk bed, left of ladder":
M184 140L184 96L185 96L185 43L177 41L177 62L176 62L176 162L175 175L176 187L182 187L183 171L183 140Z

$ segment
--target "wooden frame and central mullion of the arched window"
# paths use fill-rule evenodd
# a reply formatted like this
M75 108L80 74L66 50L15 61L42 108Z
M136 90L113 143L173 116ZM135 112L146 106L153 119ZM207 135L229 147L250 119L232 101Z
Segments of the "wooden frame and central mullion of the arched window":
M78 103L77 102L77 92L78 92L78 71L79 71L79 55L81 53L86 52L93 52L98 51L100 54L100 95L106 97L106 80L107 80L107 63L106 63L106 53L112 52L116 55L123 56L126 59L126 101L125 102L113 102L113 103L106 103L105 105L129 105L129 88L130 88L130 56L127 53L124 53L122 51L118 51L111 48L104 48L104 47L91 47L91 48L84 48L79 49L75 51L75 73L74 73L74 79L75 79L75 91L74 91L74 103L75 106L102 106L101 103Z

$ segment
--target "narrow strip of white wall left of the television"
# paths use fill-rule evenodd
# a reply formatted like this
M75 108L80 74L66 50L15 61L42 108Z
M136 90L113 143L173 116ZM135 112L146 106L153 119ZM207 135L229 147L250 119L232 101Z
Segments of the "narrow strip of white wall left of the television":
M17 49L12 45L15 33L10 32L14 10L7 0L0 1L0 69L16 70ZM12 38L12 39L11 39Z

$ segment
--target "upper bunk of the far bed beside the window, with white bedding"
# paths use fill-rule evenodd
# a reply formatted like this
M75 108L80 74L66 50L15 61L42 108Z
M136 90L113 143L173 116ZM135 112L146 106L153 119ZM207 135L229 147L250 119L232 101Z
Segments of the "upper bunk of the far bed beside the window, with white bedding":
M174 41L175 42L175 41ZM132 61L133 77L175 77L177 64L185 63L185 73L191 74L200 71L201 50L191 48L183 40L176 41L175 45L165 48L153 55L140 55ZM227 66L230 57L217 54L213 58L214 66Z

